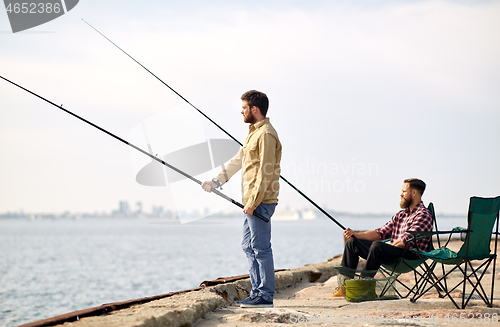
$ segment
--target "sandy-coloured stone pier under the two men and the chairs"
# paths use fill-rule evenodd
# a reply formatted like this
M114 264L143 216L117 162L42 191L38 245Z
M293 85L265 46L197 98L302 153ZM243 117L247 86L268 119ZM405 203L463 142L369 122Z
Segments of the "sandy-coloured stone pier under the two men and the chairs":
M453 250L458 250L461 245L460 240L450 242L450 248ZM498 246L500 247L500 244ZM429 291L416 302L411 302L408 298L348 302L343 297L329 297L337 286L336 271L333 267L340 264L341 258L342 255L338 255L322 263L276 272L274 308L243 309L235 304L245 298L251 289L247 275L242 275L205 281L205 286L191 290L93 308L108 308L111 311L95 310L93 315L85 317L78 316L78 313L82 312L75 311L22 327L236 327L283 326L284 323L306 326L456 326L462 323L474 326L498 325L500 290L494 291L492 307L487 307L479 298L473 298L463 310L456 309L448 298L439 298L435 290ZM500 282L500 262L496 263L494 276L492 269L492 266L488 268L482 281L487 292L491 290L492 278L496 285ZM412 273L398 277L407 285L413 283L412 278ZM447 280L456 284L461 279L463 277L454 273ZM64 316L72 316L73 321L62 319ZM79 320L76 320L77 317Z

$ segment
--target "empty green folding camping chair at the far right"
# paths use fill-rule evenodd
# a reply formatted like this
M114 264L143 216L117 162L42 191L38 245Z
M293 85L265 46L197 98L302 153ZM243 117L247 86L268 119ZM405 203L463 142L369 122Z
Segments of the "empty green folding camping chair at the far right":
M458 252L453 252L447 248L447 244L439 249L435 249L429 252L414 250L427 269L426 277L427 281L431 285L421 292L417 292L411 301L415 302L422 295L427 293L433 286L439 285L445 290L445 296L450 298L457 309L465 309L469 300L472 298L474 293L477 293L479 297L484 301L488 307L493 306L493 291L495 283L495 264L497 257L497 242L498 242L498 212L500 210L500 196L496 198L480 198L472 197L469 204L469 212L467 215L467 229L454 229L447 232L429 232L433 234L444 234L449 233L450 236L453 233L463 233L465 235L465 242ZM493 227L496 223L496 231L493 232ZM492 234L495 236L495 245L493 254L491 254L490 243ZM426 260L432 260L433 263L440 262L445 265L453 266L446 274L438 278L432 269L432 265L429 266L425 262ZM472 261L479 261L479 266L474 268L472 266ZM483 261L480 263L480 261ZM488 298L483 286L481 285L482 278L490 264L493 262L493 273L491 281L491 297ZM454 271L459 270L463 279L455 285L453 288L448 289L447 277ZM482 270L482 272L481 272ZM432 281L434 280L434 281ZM444 285L443 285L444 282ZM470 294L466 294L467 282L470 283L472 289ZM451 292L457 289L460 285L463 286L462 289L462 305L459 307L453 297Z

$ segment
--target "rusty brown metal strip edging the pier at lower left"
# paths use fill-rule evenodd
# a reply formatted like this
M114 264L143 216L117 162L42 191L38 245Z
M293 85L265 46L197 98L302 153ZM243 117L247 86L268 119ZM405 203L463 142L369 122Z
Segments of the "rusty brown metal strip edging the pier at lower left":
M122 302L114 302L114 303L107 303L100 305L98 307L93 307L89 309L83 309L83 310L78 310L78 311L73 311L70 313L65 313L59 316L55 316L52 318L47 318L39 321L34 321L31 323L27 323L24 325L20 325L19 327L45 327L45 326L56 326L63 324L65 322L72 322L79 320L80 318L84 317L93 317L93 316L100 316L102 314L109 313L111 311L115 310L120 310L120 309L125 309L128 307L131 307L136 304L143 304L167 297L171 297L173 295L177 294L183 294L183 293L189 293L193 291L199 291L202 290L202 287L197 287L197 288L192 288L189 290L182 290L182 291L176 291L176 292L170 292L166 294L161 294L161 295L155 295L155 296L149 296L149 297L144 297L140 299L134 299L134 300L128 300L128 301L122 301Z

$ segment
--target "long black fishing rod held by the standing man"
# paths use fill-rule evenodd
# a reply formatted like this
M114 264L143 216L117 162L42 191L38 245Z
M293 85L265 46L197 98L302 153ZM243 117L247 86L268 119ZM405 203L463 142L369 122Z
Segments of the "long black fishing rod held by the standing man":
M38 97L38 98L40 98L40 99L42 99L42 100L44 100L44 101L46 101L46 102L50 103L51 105L53 105L53 106L55 106L55 107L57 107L57 108L61 109L62 111L66 112L66 113L68 113L68 114L70 114L70 115L72 115L73 117L76 117L76 118L80 119L81 121L83 121L83 122L85 122L85 123L87 123L87 124L89 124L89 125L91 125L91 126L93 126L93 127L97 128L98 130L100 130L100 131L102 131L102 132L104 132L104 133L106 133L106 134L108 134L108 135L110 135L110 136L114 137L115 139L117 139L117 140L119 140L119 141L121 141L121 142L125 143L126 145L128 145L128 146L130 146L130 147L132 147L132 148L136 149L137 151L139 151L139 152L141 152L141 153L144 153L144 154L145 154L145 155L147 155L148 157L150 157L150 158L152 158L152 159L154 159L154 160L158 161L158 162L159 162L159 163L161 163L162 165L167 166L168 168L170 168L170 169L174 170L175 172L177 172L177 173L179 173L179 174L183 175L184 177L189 178L189 179L190 179L190 180L192 180L193 182L196 182L196 183L198 183L199 185L201 185L201 181L200 181L200 180L198 180L198 179L194 178L193 176L191 176L191 175L189 175L189 174L187 174L187 173L183 172L182 170L180 170L180 169L178 169L178 168L176 168L176 167L174 167L174 166L170 165L169 163L167 163L167 162L165 162L165 161L161 160L160 158L153 156L152 154L150 154L150 153L148 153L148 152L144 151L143 149L141 149L141 148L139 148L139 147L137 147L137 146L133 145L132 143L130 143L130 142L128 142L128 141L126 141L126 140L122 139L121 137L119 137L119 136L117 136L117 135L115 135L115 134L113 134L113 133L111 133L111 132L109 132L109 131L105 130L104 128L102 128L102 127L100 127L100 126L98 126L98 125L96 125L96 124L94 124L94 123L92 123L92 122L88 121L87 119L85 119L85 118L83 118L83 117L78 116L77 114L75 114L75 113L73 113L73 112L71 112L71 111L69 111L69 110L67 110L67 109L64 109L62 106L58 106L58 105L57 105L57 104L55 104L54 102L52 102L52 101L50 101L50 100L47 100L46 98L44 98L44 97L42 97L42 96L40 96L40 95L38 95L38 94L36 94L36 93L34 93L34 92L31 92L30 90L28 90L28 89L26 89L26 88L22 87L22 86L21 86L21 85L19 85L19 84L16 84L16 83L14 83L14 82L12 82L12 81L8 80L7 78L5 78L5 77L3 77L3 76L0 76L0 78L2 78L3 80L5 80L5 81L7 81L7 82L9 82L9 83L11 83L11 84L13 84L13 85L15 85L15 86L19 87L20 89L23 89L24 91L26 91L26 92L28 92L28 93L31 93L32 95L34 95L34 96L36 96L36 97ZM235 200L231 199L230 197L228 197L228 196L227 196L227 195L225 195L224 193L220 192L219 190L212 188L212 189L211 189L211 191L212 191L212 192L214 192L215 194L217 194L218 196L220 196L220 197L222 197L222 198L226 199L227 201L231 202L232 204L237 205L238 207L240 207L240 208L242 208L242 209L244 208L243 204L241 204L241 203L239 203L239 202L237 202L237 201L235 201ZM269 219L268 219L268 218L266 218L266 217L264 217L264 216L262 216L262 215L260 215L260 214L258 214L258 213L256 213L256 212L254 212L254 213L253 213L253 215L254 215L254 216L256 216L257 218L260 218L260 219L264 220L266 223L268 223L268 222L269 222Z

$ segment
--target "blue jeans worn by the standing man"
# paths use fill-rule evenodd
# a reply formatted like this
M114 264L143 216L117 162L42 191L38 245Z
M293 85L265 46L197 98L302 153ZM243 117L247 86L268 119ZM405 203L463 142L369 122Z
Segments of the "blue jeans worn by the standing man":
M261 203L254 212L271 219L276 203ZM243 252L247 255L251 297L260 296L272 301L274 295L274 261L271 248L271 222L245 214L243 223Z

